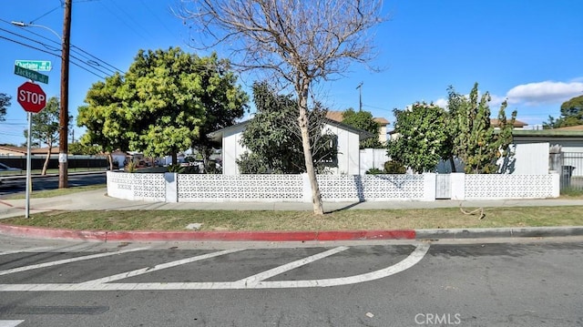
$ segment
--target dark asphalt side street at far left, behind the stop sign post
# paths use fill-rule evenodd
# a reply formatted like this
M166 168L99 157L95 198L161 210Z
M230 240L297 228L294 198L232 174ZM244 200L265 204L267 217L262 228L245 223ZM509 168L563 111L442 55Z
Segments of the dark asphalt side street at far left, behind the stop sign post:
M69 175L68 186L75 188L77 186L87 186L96 184L105 184L106 173L97 173L90 175ZM58 189L58 177L33 177L33 191L43 189ZM3 179L0 184L0 199L7 195L25 193L26 179Z

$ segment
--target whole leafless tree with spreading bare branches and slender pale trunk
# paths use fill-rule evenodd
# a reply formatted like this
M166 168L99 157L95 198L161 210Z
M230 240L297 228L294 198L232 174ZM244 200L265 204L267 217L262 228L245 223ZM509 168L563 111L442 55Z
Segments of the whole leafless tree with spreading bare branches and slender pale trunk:
M312 84L372 59L373 26L384 21L381 0L182 0L176 14L198 27L201 48L228 46L233 64L271 72L292 85L314 214L322 198L313 167L308 95Z

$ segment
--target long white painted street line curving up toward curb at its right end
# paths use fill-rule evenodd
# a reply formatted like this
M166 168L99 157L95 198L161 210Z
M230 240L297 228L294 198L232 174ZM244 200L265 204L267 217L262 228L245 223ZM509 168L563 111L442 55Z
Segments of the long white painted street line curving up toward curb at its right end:
M0 291L170 291L170 290L241 290L331 287L375 281L405 271L424 258L429 244L419 243L415 250L393 266L360 275L307 281L220 282L141 282L141 283L69 283L69 284L0 284ZM216 252L218 253L218 252ZM325 253L325 252L323 252ZM261 274L258 274L261 275ZM254 276L258 276L254 275ZM252 277L252 276L251 276Z

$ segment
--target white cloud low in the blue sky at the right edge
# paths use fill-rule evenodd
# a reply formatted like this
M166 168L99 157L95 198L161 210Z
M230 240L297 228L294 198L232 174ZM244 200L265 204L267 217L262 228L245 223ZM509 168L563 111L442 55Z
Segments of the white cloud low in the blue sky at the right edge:
M507 93L508 102L526 103L530 106L561 103L583 94L582 82L544 81L512 87Z

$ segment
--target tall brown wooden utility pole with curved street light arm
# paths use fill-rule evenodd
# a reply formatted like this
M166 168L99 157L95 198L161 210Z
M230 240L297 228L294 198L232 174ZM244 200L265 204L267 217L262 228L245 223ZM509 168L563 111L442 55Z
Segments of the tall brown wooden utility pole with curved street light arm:
M26 24L24 22L11 22L20 27L41 27L52 32L61 41L61 109L59 110L59 138L58 138L58 188L68 187L68 172L66 154L68 152L68 126L69 126L69 41L71 37L71 6L72 0L65 0L65 17L63 19L63 36L59 36L49 27ZM30 131L28 131L30 133Z

